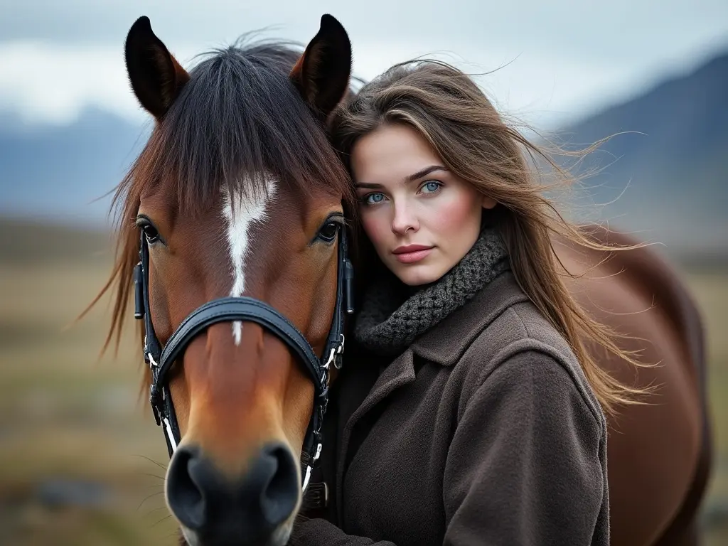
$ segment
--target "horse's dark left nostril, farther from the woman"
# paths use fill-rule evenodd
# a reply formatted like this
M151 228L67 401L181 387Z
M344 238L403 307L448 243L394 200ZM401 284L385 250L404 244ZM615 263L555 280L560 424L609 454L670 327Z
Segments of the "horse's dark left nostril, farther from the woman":
M167 471L167 503L175 517L188 529L205 526L205 494L202 484L205 471L197 450L181 447Z

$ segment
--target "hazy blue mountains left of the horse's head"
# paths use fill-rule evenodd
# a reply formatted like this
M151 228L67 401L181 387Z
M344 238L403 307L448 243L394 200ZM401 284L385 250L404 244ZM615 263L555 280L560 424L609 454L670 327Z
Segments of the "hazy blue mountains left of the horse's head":
M111 197L149 127L89 108L68 125L0 119L0 215L106 226Z

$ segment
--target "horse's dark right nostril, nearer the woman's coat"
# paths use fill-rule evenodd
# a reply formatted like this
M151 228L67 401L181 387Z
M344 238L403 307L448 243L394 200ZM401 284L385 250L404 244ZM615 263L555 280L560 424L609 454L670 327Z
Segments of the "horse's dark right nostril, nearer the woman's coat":
M261 463L261 470L269 469L269 478L261 491L261 512L271 526L277 526L296 509L299 487L296 461L285 446L269 444L261 450Z

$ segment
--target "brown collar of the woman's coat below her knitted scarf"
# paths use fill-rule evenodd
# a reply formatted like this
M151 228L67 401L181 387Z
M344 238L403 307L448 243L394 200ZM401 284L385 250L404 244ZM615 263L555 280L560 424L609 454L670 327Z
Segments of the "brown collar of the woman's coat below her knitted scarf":
M445 317L438 325L411 344L415 355L452 366L460 360L472 341L510 306L528 301L510 271L488 282L464 306Z

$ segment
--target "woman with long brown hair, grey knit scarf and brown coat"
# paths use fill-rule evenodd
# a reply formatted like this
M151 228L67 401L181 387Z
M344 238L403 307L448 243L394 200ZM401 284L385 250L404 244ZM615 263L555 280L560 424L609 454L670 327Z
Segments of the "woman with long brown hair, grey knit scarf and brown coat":
M437 62L365 85L332 134L376 257L327 414L328 509L292 543L608 545L605 412L634 391L585 350L619 352L564 287L550 234L595 243L534 183L523 150L545 154Z

